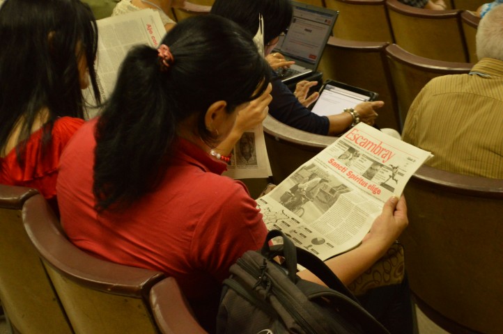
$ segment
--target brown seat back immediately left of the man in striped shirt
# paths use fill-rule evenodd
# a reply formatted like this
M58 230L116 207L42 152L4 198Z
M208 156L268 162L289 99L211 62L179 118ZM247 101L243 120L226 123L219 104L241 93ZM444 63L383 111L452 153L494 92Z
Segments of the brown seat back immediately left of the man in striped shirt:
M396 91L401 128L410 104L428 81L441 75L468 73L473 66L472 63L437 61L416 56L398 45L389 45L386 54Z

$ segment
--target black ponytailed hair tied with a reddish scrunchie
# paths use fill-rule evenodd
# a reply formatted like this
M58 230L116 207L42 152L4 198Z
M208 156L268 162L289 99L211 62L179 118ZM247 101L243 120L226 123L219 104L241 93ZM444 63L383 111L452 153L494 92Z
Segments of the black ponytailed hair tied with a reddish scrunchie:
M196 118L201 140L211 143L208 107L224 100L232 113L260 96L270 81L268 63L252 38L228 19L184 19L161 44L169 47L173 63L163 71L157 49L131 49L98 120L93 184L98 212L122 209L156 188L178 123Z

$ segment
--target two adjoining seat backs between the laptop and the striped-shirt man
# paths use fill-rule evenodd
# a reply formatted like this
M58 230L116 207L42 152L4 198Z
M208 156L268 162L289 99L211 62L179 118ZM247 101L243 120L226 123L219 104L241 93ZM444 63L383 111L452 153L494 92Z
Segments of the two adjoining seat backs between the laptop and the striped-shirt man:
M389 42L362 42L330 37L318 65L325 79L372 90L385 106L378 125L401 132L408 109L434 77L470 72L472 63L437 61L417 56Z

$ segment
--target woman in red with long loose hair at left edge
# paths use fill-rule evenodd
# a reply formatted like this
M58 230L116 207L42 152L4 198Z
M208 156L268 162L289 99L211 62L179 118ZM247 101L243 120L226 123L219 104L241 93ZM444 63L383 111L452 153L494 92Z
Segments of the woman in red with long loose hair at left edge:
M54 205L59 156L84 123L98 30L79 0L6 0L0 8L0 183ZM54 205L56 207L56 205Z

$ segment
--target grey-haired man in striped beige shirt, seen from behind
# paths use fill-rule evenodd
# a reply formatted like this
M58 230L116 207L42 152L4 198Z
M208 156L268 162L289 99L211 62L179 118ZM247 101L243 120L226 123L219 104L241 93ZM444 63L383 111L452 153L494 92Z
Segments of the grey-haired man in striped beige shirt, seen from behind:
M503 179L503 6L481 19L469 74L431 80L405 119L402 139L428 150L426 164Z

